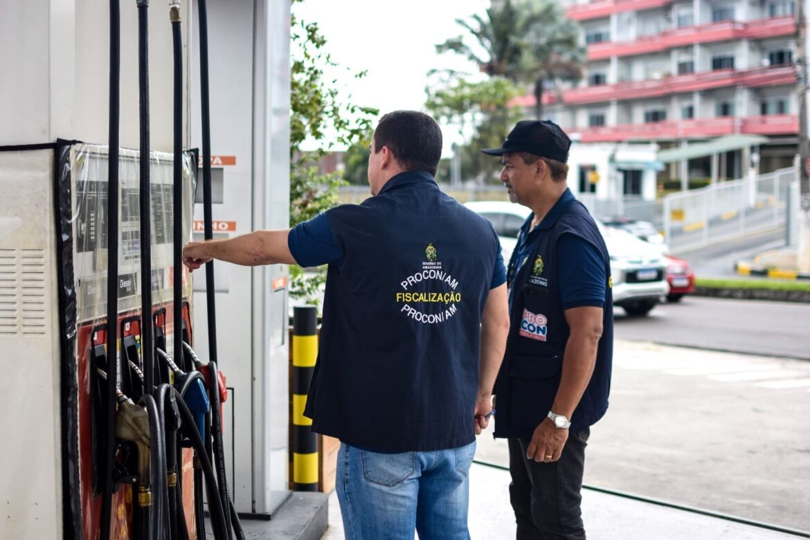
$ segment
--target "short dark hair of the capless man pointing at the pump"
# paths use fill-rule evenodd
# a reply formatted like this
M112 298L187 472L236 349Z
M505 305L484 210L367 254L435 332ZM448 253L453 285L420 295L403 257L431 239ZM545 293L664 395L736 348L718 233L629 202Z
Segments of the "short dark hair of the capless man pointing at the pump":
M441 129L425 113L394 111L380 118L374 130L374 151L388 147L406 171L427 171L436 176L441 159Z

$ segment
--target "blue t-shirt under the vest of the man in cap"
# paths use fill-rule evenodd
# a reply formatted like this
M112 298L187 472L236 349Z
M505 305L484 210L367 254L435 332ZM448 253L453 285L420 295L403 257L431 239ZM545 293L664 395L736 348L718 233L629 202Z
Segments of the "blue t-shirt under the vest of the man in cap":
M528 232L528 227L526 232ZM524 264L532 249L532 243L527 241L527 237L527 233L521 232L515 248L518 253L518 261L524 261ZM570 309L582 306L603 308L608 275L605 274L599 249L580 236L564 234L557 240L556 257L557 268L564 270L557 274L562 308ZM517 270L520 268L518 267ZM512 292L509 291L509 306L511 304Z

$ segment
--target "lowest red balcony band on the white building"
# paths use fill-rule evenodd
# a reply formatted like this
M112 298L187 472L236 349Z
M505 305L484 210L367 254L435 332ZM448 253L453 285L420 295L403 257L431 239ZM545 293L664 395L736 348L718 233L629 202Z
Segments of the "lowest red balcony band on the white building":
M770 114L757 117L718 117L650 124L606 125L569 128L582 142L624 142L628 140L672 140L680 138L719 137L735 133L756 135L799 134L799 115Z

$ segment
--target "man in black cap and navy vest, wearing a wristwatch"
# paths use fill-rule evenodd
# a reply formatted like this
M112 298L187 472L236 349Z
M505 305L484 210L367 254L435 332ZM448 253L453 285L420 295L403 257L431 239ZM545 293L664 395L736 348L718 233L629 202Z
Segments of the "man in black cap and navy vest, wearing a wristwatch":
M484 150L501 156L509 200L532 210L509 261L511 325L494 392L517 538L585 538L586 441L608 408L610 257L566 185L570 146L551 121L519 121L500 148Z

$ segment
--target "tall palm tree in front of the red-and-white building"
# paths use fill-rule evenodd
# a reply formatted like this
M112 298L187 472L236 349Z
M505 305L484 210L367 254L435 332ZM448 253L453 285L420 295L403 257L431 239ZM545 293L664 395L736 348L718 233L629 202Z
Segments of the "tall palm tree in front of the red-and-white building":
M505 0L490 7L485 17L456 22L475 38L475 45L458 36L437 45L437 52L463 54L485 74L533 84L538 120L547 86L582 78L585 49L579 45L578 25L565 19L555 2Z

